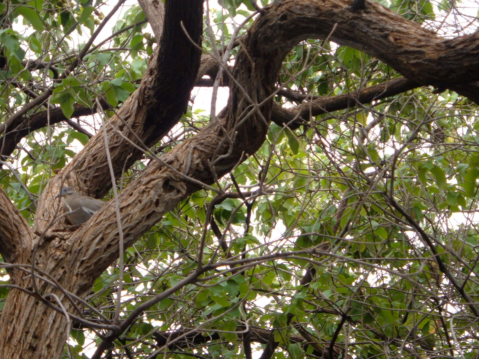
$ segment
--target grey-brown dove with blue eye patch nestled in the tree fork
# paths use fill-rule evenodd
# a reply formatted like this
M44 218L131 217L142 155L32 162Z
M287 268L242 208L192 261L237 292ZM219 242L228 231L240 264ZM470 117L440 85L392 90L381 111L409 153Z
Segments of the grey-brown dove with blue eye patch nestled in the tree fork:
M68 222L73 225L83 224L90 217L102 208L106 202L95 198L80 196L71 187L63 187L60 194L55 199L61 197L63 202L63 211L67 214Z

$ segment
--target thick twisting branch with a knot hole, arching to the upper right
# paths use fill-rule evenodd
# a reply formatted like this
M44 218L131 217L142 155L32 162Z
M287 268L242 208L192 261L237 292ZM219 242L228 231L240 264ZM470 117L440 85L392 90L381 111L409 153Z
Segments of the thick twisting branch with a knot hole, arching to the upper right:
M159 161L151 164L139 179L123 191L122 223L125 245L132 245L137 237L158 222L164 213L196 191L200 187L198 181L213 183L216 178L226 174L261 146L268 129L267 120L270 118L272 106L270 95L274 92L277 72L283 56L297 41L313 35L325 37L334 23L338 22L341 26L338 26L333 34L338 43L353 45L352 36L355 35L356 47L370 52L375 50L377 53L373 55L381 56L388 63L400 62L399 68L404 66L403 62L410 59L411 53L419 51L416 49L418 43L422 50L430 46L430 51L434 51L435 47L444 47L443 51L448 51L441 45L444 40L435 34L423 30L379 4L369 5L372 10L364 16L361 25L354 24L359 21L356 19L358 15L345 11L348 6L346 1L340 0L338 3L336 0L289 0L270 5L265 15L251 28L245 46L236 59L233 76L238 85L231 85L227 112L219 121L212 121L200 134L184 141ZM355 20L351 19L352 16ZM405 26L406 24L408 26ZM358 26L359 30L354 31L355 26ZM373 30L383 33L388 30L394 34L397 32L406 38L421 35L419 38L422 40L413 42L412 45L398 41L399 49L403 47L402 51L395 52L399 54L398 58L384 51L384 46L392 46L388 43L390 40L384 36L376 34L367 39L362 37L362 32ZM345 40L339 37L341 34ZM429 41L423 41L423 38L428 38ZM438 45L433 46L433 41ZM390 51L392 52L391 49ZM403 57L400 57L401 54ZM419 59L413 57L413 60L416 67L421 65ZM440 64L437 66L440 67ZM448 70L464 71L451 68ZM431 73L430 70L429 72ZM418 75L417 79L426 81L428 76L426 74L421 78ZM261 104L261 113L255 103ZM95 238L94 248L88 245L90 238ZM86 280L82 287L89 288L91 279L96 278L118 255L112 203L103 207L89 225L77 231L68 241L68 245L73 246L72 251L76 256L85 259L78 270ZM93 262L105 265L92 266Z

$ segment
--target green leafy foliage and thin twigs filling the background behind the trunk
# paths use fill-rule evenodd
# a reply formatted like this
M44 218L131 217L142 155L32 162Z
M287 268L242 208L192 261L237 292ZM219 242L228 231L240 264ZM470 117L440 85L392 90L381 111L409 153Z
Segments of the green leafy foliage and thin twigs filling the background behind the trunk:
M381 3L440 34L477 26L457 2ZM235 31L241 39L261 17L253 12L249 0L210 3L204 53L223 54ZM39 193L137 89L157 39L136 3L9 0L0 13L0 183L33 224ZM228 49L225 72L239 49ZM477 358L477 104L416 87L372 102L351 98L338 111L308 109L399 77L351 47L297 44L274 101L303 112L289 125L272 123L256 153L166 213L96 279L82 310L97 324L175 288L138 314L106 357L250 358L252 350L266 359L269 348L277 359ZM231 79L214 81L198 85L215 94ZM49 88L47 102L30 106ZM215 120L197 92L169 135L121 176L119 190L153 155ZM50 114L6 153L8 121L25 108L32 123ZM213 266L183 284L199 263ZM13 289L2 270L3 307ZM73 320L64 357L89 358L107 332Z

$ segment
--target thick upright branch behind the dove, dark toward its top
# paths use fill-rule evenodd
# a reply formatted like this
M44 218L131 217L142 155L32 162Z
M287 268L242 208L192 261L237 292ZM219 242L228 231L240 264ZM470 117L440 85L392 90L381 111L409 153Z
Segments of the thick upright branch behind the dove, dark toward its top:
M175 6L167 8L169 15L165 15L160 45L139 88L108 121L108 143L116 177L140 158L148 146L166 135L186 110L201 56L197 45L188 39L189 36L200 43L199 8L199 2L193 6L190 2L183 4L178 1ZM159 15L147 13L148 19L155 16ZM188 36L184 34L182 24ZM94 197L102 197L111 188L101 132L93 136L68 166L48 183L38 201L35 233L40 233L53 218L48 202L65 183Z

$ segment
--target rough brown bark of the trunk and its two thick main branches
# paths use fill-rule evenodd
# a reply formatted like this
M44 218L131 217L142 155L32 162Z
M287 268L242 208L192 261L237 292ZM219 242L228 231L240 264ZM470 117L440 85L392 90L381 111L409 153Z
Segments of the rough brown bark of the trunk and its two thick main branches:
M183 17L184 26L197 41L201 5L202 1L166 1L165 30L158 55L152 59L140 89L107 126L116 176L142 153L122 136L138 146L150 146L185 109L199 65L199 51L181 35L177 18ZM447 87L479 78L477 34L445 40L376 2L367 1L362 13L349 12L349 5L344 0L285 0L264 9L236 58L233 76L237 82L231 85L227 110L201 133L154 161L122 192L125 247L187 195L213 183L262 145L271 117L277 72L285 54L298 41L326 38L338 24L331 34L333 41L374 55L420 84ZM182 86L172 86L178 83ZM94 136L50 181L38 203L34 227L37 234L53 218L52 197L63 180L87 194L101 196L108 190L111 183L103 146L102 134ZM12 211L11 216L16 218L0 224L1 241L8 244L6 252L12 259L16 249L31 250L38 243L35 265L63 288L82 297L119 256L114 211L111 201L66 241L50 237L48 241L37 241L28 231L26 239L20 238L20 234L14 234L13 226L23 231L27 228L20 214ZM12 277L14 284L34 290L31 277L20 277ZM55 293L65 308L73 311L65 292L38 278L36 282L37 296ZM57 358L68 334L66 329L62 314L27 293L12 290L0 319L0 352L9 353L13 359Z

